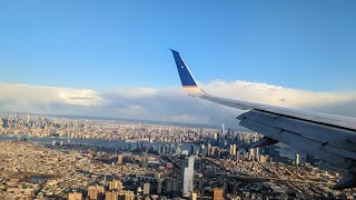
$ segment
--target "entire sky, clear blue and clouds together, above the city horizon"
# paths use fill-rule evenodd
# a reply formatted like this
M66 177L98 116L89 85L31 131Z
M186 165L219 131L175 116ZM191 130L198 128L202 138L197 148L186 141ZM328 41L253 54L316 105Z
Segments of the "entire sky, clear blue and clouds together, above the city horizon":
M1 1L0 111L236 123L187 97L356 117L355 1Z

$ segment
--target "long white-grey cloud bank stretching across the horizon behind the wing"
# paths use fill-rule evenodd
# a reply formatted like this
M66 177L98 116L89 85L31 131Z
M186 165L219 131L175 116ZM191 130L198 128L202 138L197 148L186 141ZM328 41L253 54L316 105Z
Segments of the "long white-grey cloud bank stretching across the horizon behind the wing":
M356 117L356 92L314 92L267 83L214 80L202 88L220 97ZM95 91L0 83L0 110L189 123L236 123L240 110L187 97L181 88Z

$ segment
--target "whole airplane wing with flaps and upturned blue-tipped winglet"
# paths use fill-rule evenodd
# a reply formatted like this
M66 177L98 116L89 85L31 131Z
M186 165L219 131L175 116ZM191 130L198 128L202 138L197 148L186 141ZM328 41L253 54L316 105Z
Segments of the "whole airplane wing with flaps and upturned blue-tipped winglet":
M251 147L286 143L348 170L334 189L356 187L356 118L287 109L206 93L195 81L180 53L172 50L182 88L189 96L246 110L239 124L265 137Z

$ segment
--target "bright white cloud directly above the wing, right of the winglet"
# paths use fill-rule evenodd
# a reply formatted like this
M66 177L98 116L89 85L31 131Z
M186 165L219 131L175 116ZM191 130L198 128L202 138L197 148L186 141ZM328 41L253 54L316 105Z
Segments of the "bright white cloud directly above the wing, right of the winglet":
M356 92L314 92L247 81L215 80L205 84L207 91L233 98L291 108L313 108L356 100Z

